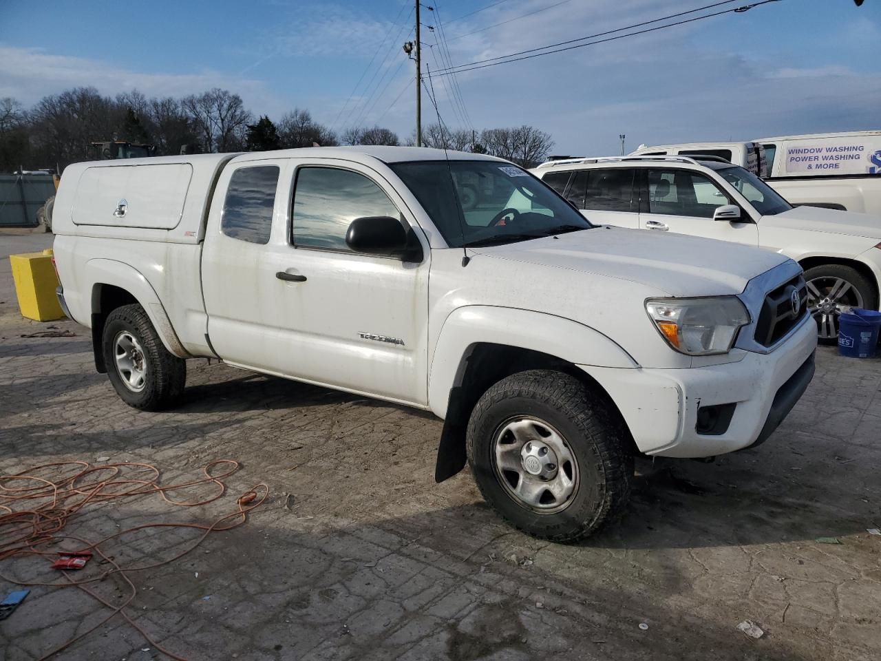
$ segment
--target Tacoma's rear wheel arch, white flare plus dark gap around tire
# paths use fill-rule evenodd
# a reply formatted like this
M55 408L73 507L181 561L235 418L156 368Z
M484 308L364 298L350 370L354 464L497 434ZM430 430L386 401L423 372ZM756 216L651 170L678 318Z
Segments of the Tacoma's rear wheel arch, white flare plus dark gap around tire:
M169 353L178 358L189 358L189 353L181 345L159 296L144 275L130 264L111 259L93 259L85 265L86 281L91 292L92 348L95 369L107 372L101 351L101 336L104 323L116 308L137 303L150 318L150 323L159 334L162 344Z

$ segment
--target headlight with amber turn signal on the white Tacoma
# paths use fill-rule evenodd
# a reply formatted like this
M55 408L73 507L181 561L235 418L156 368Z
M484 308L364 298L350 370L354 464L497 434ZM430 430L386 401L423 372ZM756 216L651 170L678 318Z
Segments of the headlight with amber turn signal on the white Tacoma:
M750 313L737 296L705 299L648 299L648 316L678 352L692 356L728 353Z

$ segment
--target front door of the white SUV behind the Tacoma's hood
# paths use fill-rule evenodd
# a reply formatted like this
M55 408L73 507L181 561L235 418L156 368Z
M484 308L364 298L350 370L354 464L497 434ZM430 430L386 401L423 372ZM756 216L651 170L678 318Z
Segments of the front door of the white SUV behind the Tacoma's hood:
M685 167L644 168L640 175L642 229L759 245L759 228L749 213L706 175ZM741 219L714 220L725 204L740 206Z

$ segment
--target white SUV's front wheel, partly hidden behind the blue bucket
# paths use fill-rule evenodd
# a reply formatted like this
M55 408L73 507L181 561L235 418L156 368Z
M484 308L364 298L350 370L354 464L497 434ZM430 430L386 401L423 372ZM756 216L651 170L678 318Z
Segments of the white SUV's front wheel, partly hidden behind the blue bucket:
M838 341L838 318L850 308L877 308L875 292L858 271L844 264L823 264L804 271L808 311L817 321L818 340Z

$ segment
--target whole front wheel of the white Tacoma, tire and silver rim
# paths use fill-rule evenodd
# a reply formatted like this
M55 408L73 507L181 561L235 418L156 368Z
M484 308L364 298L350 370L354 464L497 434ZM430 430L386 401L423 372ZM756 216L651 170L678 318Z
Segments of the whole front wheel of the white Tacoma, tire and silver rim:
M538 538L587 537L623 513L633 453L623 421L573 376L530 370L480 397L467 448L485 500Z

